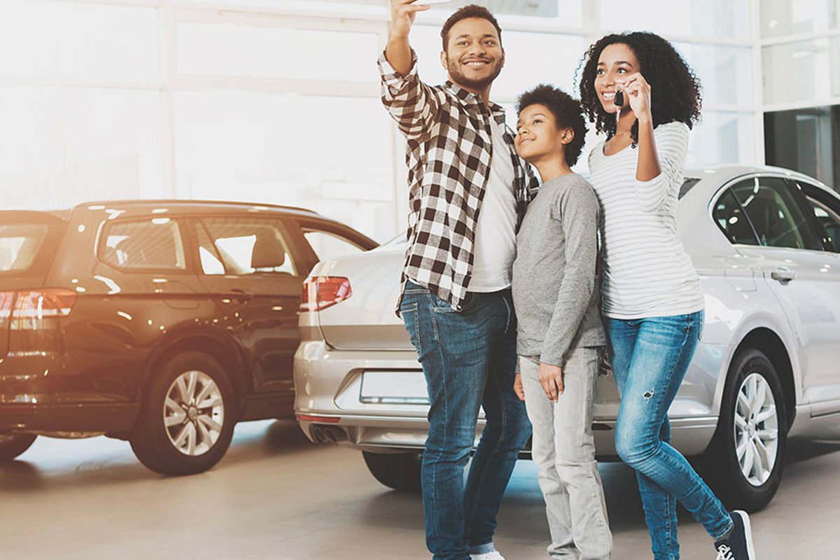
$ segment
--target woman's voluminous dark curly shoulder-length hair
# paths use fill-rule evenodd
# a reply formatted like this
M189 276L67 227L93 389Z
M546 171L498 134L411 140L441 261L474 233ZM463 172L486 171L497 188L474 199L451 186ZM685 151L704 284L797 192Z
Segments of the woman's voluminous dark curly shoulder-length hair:
M644 79L650 84L651 114L654 128L664 123L675 121L685 123L691 128L700 120L702 106L700 80L683 57L667 40L647 31L610 34L598 39L580 61L580 102L591 123L595 123L598 133L606 133L612 138L616 133L616 119L604 111L598 92L595 90L595 78L601 51L610 44L626 44L636 55ZM638 120L631 129L633 145L638 143Z

